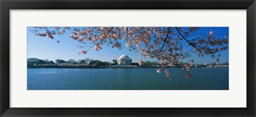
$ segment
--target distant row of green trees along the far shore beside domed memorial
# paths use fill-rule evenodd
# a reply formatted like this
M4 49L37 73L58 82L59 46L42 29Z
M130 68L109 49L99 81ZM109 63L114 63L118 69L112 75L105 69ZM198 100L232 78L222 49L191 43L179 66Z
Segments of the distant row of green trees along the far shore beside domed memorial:
M184 63L180 62L172 66L166 67L182 67ZM113 62L93 60L90 58L85 58L82 60L69 59L68 61L57 59L55 61L49 59L38 59L38 58L28 58L27 66L28 67L78 67L78 68L99 68L99 67L110 67L117 65L117 60L114 59ZM132 62L132 66L138 67L159 67L161 64L158 61L141 61L141 64L138 62ZM207 65L197 65L197 67L207 67L207 66L228 66L228 62L223 64L211 63Z

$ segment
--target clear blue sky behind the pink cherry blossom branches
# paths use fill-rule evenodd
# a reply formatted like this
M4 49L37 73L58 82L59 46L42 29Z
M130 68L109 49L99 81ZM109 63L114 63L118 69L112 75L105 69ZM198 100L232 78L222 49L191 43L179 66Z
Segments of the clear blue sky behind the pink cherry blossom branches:
M132 59L132 62L138 62L142 59L139 53L129 51L129 48L125 46L124 42L122 42L122 50L104 45L102 50L95 51L91 48L85 55L77 55L77 52L81 51L81 48L77 48L77 45L81 45L81 43L67 37L67 34L70 34L72 30L67 31L63 35L54 35L54 38L59 40L60 43L47 37L38 37L30 32L30 30L33 30L33 27L27 28L27 58L49 59L52 61L56 59L79 60L92 58L93 60L112 61L113 59L119 58L121 55L127 55ZM215 34L228 34L229 32L227 27L203 27L199 29L198 32L207 34L210 30L214 31ZM221 57L219 57L220 61L218 63L222 64L223 62L228 62L228 50L221 51L220 53ZM215 62L214 59L209 56L197 57L194 53L191 53L191 58L189 59L194 59L195 64ZM156 59L147 58L142 60L155 61Z

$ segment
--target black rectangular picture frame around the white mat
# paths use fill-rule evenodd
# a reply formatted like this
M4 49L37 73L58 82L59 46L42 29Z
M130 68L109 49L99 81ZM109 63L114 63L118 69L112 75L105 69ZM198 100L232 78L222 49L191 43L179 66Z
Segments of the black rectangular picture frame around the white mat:
M0 0L1 116L255 116L255 0ZM10 10L246 10L246 108L10 108ZM234 73L235 74L235 73Z

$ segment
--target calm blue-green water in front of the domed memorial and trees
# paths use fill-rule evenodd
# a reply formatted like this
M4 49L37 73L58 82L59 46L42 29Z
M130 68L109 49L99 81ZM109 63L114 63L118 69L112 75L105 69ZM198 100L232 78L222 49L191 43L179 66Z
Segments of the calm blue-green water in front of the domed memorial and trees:
M157 68L28 68L28 90L228 90L228 68L193 68L193 78L168 68L173 80Z

